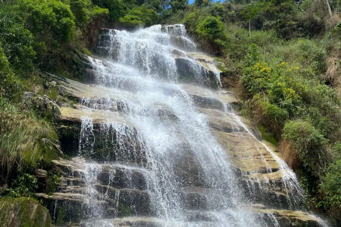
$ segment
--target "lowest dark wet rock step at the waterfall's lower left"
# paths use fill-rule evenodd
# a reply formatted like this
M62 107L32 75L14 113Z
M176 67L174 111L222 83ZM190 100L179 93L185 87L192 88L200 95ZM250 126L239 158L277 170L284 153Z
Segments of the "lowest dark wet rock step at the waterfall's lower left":
M96 194L36 193L50 211L54 223L79 222L83 219L113 218L127 215L155 215L146 191L115 189L95 185Z

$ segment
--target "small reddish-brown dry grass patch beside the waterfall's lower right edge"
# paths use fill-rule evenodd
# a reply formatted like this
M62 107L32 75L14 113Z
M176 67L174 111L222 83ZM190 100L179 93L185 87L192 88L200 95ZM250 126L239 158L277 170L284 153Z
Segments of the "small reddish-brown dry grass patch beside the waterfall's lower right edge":
M288 164L288 166L293 170L298 170L301 167L302 161L297 153L293 148L291 148L290 143L281 140L279 142L279 150L282 154L284 161Z

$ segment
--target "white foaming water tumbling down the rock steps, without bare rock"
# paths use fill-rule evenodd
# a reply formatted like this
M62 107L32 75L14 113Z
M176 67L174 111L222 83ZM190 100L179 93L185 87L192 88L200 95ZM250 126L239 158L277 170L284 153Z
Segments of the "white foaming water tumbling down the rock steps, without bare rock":
M252 198L246 196L247 189L239 184L237 170L215 138L207 117L198 112L191 96L178 85L183 75L177 68L174 50L184 54L196 82L209 80L208 70L183 51L195 51L184 26L156 25L133 33L111 30L104 36L99 47L105 48L107 58L90 60L95 83L110 87L117 97L85 97L81 105L90 112L99 109L114 112L125 121L108 119L100 124L100 136L95 138L92 119L83 118L79 154L90 159L100 156L100 160L85 164L88 197L95 199L99 194L94 185L102 165L112 168L120 165L127 173L129 170L143 173L150 198L149 215L161 226L279 226L273 215L267 215L272 220L269 223L264 216L245 209ZM174 44L174 37L181 38L183 43ZM213 62L208 61L208 67L219 85L219 71ZM225 109L227 112L226 105ZM237 116L235 119L238 128L252 135ZM106 152L96 155L95 141ZM278 161L288 173L284 179L287 194L302 193L295 175L280 158ZM131 167L131 163L138 167ZM112 170L108 188L114 179ZM92 212L85 223L115 226L111 219L118 217L120 196L120 190L112 197L107 190L101 198L112 200L111 207L116 209L112 216L103 214L105 207L88 201ZM302 199L301 194L298 197L290 199Z

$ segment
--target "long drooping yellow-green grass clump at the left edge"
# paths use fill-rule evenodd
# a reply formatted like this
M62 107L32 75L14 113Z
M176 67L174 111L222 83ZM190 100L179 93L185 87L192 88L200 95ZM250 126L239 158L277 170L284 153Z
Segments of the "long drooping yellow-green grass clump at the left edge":
M57 139L54 128L29 112L0 98L0 165L3 174L18 171L39 156L38 142L42 138ZM41 158L41 157L38 157Z

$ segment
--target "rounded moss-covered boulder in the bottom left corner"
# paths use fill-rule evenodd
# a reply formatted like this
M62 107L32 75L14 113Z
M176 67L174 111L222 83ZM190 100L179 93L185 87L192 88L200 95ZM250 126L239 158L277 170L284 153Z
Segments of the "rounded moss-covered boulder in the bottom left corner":
M48 210L36 200L21 197L0 199L0 223L5 227L50 227L52 221Z

